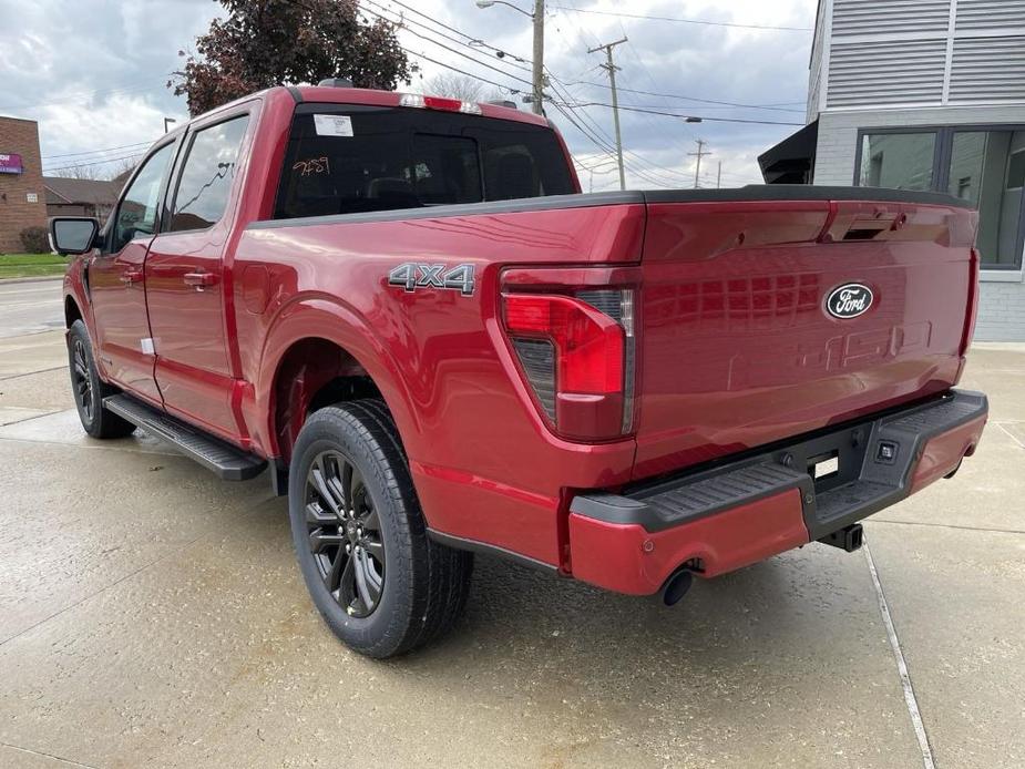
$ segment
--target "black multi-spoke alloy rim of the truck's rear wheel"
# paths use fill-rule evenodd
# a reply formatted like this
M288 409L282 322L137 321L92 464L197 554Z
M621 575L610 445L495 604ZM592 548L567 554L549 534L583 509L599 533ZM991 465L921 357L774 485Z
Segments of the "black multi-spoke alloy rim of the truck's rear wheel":
M306 478L310 553L331 597L351 617L368 617L385 588L381 523L362 475L338 451L325 451Z

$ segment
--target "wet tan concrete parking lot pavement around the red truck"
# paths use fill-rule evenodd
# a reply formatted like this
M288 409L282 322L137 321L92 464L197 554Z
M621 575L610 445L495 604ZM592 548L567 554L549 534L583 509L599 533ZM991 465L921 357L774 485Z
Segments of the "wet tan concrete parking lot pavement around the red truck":
M83 435L60 283L23 286L0 285L0 766L1025 765L1025 347L973 350L977 454L862 552L672 609L479 557L458 630L378 663L321 624L266 478Z

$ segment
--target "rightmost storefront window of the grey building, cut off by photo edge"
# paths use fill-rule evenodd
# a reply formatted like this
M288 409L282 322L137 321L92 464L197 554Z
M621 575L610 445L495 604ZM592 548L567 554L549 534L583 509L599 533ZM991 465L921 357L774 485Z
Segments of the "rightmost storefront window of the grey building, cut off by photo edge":
M951 145L951 195L978 207L983 267L1019 264L1025 131L962 131Z

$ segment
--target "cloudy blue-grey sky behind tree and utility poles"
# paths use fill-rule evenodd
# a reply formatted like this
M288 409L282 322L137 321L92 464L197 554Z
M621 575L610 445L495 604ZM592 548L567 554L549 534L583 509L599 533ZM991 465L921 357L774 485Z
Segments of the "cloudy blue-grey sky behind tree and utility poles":
M426 90L445 66L493 81L489 96L498 86L515 100L530 90L531 22L516 11L474 0L361 6L404 18L400 40L420 68L408 90ZM693 186L697 139L711 153L703 186L716 185L720 162L722 186L758 183L756 156L803 122L814 8L816 0L547 0L546 92L555 104L546 111L584 189L618 185L604 55L587 49L628 38L615 49L627 186ZM221 12L213 0L0 0L0 114L39 121L47 173L110 172L156 139L164 117L186 119L184 99L165 83L178 51Z

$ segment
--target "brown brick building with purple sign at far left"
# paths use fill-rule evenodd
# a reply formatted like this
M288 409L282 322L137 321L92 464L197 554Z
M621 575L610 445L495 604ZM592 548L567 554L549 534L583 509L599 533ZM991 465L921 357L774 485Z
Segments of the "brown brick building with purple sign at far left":
M0 117L0 254L24 250L21 230L47 226L35 121Z

